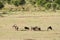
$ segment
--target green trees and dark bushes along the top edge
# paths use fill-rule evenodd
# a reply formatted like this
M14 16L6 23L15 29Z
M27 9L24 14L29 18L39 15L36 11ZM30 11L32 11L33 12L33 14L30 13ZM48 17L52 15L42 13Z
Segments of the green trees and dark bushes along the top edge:
M16 7L31 4L46 9L60 10L60 0L0 0L0 9L2 9L6 3L15 5Z

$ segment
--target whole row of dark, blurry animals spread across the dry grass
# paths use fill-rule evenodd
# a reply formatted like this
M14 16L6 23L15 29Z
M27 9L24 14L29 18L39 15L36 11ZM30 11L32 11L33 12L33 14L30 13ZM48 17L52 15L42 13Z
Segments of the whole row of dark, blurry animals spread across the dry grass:
M13 27L16 31L19 31L19 27L18 27L16 24L14 24L12 27ZM41 28L38 27L38 26L31 27L31 28L25 26L25 27L24 27L24 30L25 30L25 31L27 31L27 30L42 31ZM47 31L48 31L48 30L53 30L53 29L52 29L51 26L49 26L49 27L47 28Z

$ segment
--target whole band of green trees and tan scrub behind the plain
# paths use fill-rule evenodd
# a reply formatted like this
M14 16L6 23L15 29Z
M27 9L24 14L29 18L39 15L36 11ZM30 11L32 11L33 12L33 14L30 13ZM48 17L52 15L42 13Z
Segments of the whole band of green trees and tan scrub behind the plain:
M60 10L60 0L0 0L0 10Z

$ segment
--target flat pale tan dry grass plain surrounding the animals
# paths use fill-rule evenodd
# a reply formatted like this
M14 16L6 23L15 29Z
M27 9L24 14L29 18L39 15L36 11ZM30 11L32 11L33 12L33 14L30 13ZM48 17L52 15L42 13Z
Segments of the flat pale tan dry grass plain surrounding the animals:
M12 26L17 24L19 31ZM44 31L20 31L38 26ZM47 31L52 26L53 30ZM60 40L60 12L15 12L0 17L0 40Z

